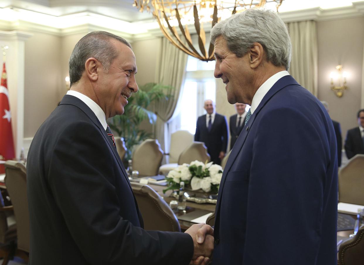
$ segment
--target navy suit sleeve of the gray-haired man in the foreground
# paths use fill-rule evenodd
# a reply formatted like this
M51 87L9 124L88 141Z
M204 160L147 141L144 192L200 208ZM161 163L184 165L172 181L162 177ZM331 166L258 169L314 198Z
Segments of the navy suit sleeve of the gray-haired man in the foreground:
M315 128L292 109L274 109L252 126L258 129L249 175L244 265L313 264L324 186L334 185L325 179L331 158L325 129ZM336 146L331 148L336 153Z

